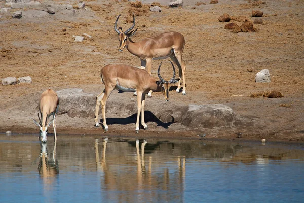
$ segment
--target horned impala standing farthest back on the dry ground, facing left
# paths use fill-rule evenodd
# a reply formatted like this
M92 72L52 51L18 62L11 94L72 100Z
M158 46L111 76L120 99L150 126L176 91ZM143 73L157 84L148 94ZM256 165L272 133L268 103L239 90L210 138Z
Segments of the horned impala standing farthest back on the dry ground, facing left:
M158 36L143 39L141 42L133 42L130 37L133 36L137 29L131 31L135 26L135 18L133 14L133 25L123 32L122 28L117 29L117 17L114 25L115 31L118 33L119 51L123 51L126 47L127 50L139 57L141 62L141 69L147 68L148 73L151 75L152 60L165 59L170 57L178 66L179 78L183 78L182 94L186 94L186 79L185 72L186 66L182 60L182 52L185 46L185 39L183 35L178 32L165 32ZM181 88L181 80L178 82L176 92ZM151 91L148 96L151 96Z

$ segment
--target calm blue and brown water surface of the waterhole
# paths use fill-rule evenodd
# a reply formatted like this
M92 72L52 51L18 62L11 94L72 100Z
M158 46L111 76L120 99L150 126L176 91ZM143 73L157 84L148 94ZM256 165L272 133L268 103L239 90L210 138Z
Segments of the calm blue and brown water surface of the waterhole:
M304 146L0 135L0 202L303 202Z

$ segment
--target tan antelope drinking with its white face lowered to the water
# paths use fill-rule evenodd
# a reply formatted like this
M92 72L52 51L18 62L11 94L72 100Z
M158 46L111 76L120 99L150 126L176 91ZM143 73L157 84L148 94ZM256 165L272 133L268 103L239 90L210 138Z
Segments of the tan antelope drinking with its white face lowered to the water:
M53 127L54 127L54 134L55 134L55 141L57 140L56 136L56 114L58 112L58 107L59 107L59 99L56 94L51 89L47 89L41 94L41 97L39 99L39 112L40 116L38 113L38 118L39 122L37 122L35 119L33 121L40 127L40 139L42 142L47 141L47 136L48 136L48 127L50 124L53 122ZM53 118L49 120L49 123L47 123L48 118L53 115Z

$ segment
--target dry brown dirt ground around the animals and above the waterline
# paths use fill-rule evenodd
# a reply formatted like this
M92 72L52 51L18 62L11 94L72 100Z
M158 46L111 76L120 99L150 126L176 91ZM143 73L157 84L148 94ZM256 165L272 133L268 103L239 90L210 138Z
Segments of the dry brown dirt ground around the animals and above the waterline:
M198 133L207 133L207 139L235 139L235 132L243 132L242 139L304 141L303 1L219 0L218 4L210 4L202 0L184 1L182 7L176 8L169 8L169 1L159 1L160 13L148 10L151 1L143 2L142 7L136 8L128 1L86 1L85 9L75 9L74 13L56 10L54 15L30 8L0 13L0 78L32 78L31 84L0 86L0 132L37 133L39 129L29 117L36 118L39 96L47 88L58 91L78 87L98 95L103 90L99 77L102 66L110 63L140 66L139 59L126 49L118 51L118 36L113 29L120 13L118 26L123 30L129 28L134 12L135 28L138 28L132 37L135 42L166 31L177 31L185 37L187 94L172 91L169 102L220 103L253 121L251 126L206 131L178 124L163 129L148 122L149 130L140 130L139 136L197 138ZM0 7L6 7L5 1L0 2ZM12 13L17 10L23 11L23 17L13 19ZM256 32L234 33L224 29L226 23L218 21L220 15L227 13L232 17L231 22L238 25L245 19L253 22L252 10L264 13L263 24L254 24ZM75 43L73 35L83 33L92 39ZM159 60L153 61L154 77L157 77L159 63ZM166 62L163 66L165 78L172 74L169 64ZM270 71L271 83L255 83L255 74L262 69ZM250 97L273 90L284 97ZM132 99L132 93L119 96L122 100ZM155 92L150 99L163 99L163 96ZM119 112L116 116L119 117ZM109 128L109 136L135 136L133 123L113 124ZM50 127L50 133L52 131ZM60 133L99 136L104 135L103 132L102 128L94 127L93 115L90 118L57 117L58 137Z

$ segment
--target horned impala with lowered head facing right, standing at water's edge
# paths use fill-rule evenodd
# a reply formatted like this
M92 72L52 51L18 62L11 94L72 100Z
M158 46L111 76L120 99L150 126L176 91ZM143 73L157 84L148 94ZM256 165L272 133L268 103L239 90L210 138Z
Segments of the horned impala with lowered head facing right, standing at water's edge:
M171 61L170 61L171 62ZM108 131L108 126L105 120L105 104L114 89L120 89L122 91L137 91L137 120L136 120L136 130L139 130L139 115L141 112L141 124L144 129L147 129L147 125L144 123L144 104L145 104L145 94L150 90L162 91L165 100L169 100L169 90L172 83L177 83L179 79L175 79L175 68L173 67L173 77L171 80L166 81L160 75L160 68L162 63L158 68L158 77L160 79L156 80L148 72L137 67L123 65L123 64L111 64L102 67L101 69L101 80L105 86L102 93L97 96L96 100L96 111L95 111L95 123L96 127L99 127L98 122L98 111L101 104L103 126L104 130Z

